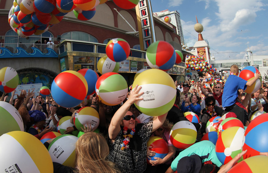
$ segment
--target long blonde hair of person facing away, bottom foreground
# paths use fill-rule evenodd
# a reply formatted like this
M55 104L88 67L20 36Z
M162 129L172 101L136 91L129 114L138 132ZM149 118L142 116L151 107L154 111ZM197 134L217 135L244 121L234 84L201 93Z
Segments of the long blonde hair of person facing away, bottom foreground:
M75 164L77 173L120 173L108 161L109 147L103 136L94 132L83 134L76 142Z

